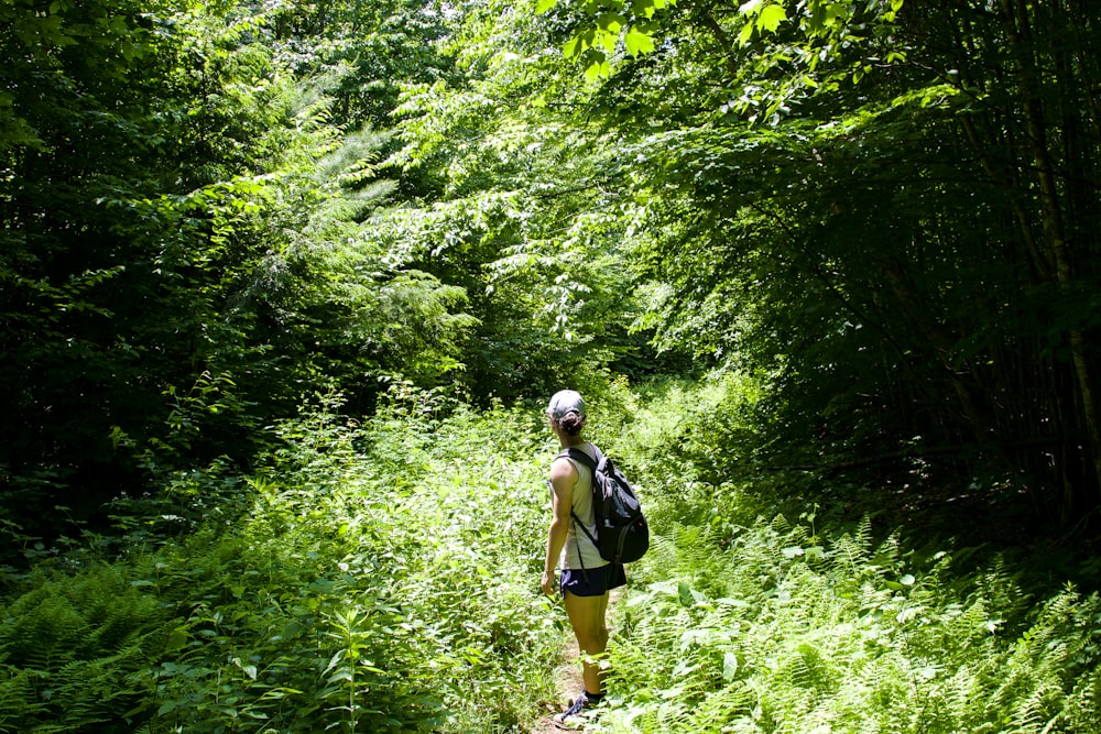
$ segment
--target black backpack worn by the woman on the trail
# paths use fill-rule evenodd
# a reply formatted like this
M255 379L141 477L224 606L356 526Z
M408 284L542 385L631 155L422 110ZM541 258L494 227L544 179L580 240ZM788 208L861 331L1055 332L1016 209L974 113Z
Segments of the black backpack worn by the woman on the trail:
M580 449L566 449L558 456L580 461L592 470L592 510L597 518L597 537L585 523L570 516L577 527L592 540L600 557L612 563L630 563L643 557L650 548L650 526L631 482L612 460L597 449L597 460Z

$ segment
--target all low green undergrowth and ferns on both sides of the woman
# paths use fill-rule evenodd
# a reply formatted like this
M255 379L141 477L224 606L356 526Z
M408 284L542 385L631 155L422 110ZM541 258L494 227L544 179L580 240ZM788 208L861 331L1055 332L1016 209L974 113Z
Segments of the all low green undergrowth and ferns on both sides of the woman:
M654 537L588 731L1101 732L1097 595L798 502L813 480L751 470L759 390L591 395ZM119 503L117 537L7 571L0 732L530 731L569 639L536 585L541 406L337 408L277 426L248 476L166 476Z

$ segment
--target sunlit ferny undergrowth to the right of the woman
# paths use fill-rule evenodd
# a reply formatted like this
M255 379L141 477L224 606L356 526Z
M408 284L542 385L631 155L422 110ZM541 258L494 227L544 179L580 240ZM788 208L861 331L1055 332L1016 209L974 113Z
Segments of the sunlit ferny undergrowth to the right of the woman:
M963 544L904 547L897 529L793 502L792 478L752 471L752 381L648 397L617 443L656 537L587 731L1101 732L1097 594L1034 598L996 558L958 562Z

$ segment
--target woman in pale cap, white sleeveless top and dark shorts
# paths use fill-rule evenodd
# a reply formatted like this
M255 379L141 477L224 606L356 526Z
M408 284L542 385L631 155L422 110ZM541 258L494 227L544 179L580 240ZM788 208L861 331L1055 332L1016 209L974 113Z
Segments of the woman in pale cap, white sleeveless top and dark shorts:
M585 427L585 402L573 390L555 393L547 406L550 430L562 449L578 449L596 458L596 447L581 437ZM597 659L608 646L608 592L626 583L623 567L600 557L596 545L576 527L579 521L596 536L592 508L592 471L565 456L550 464L550 489L554 518L547 533L547 555L543 565L542 587L545 594L555 590L555 566L562 566L559 590L566 605L577 646L584 656L585 690L555 723L565 724L603 698L600 666ZM574 517L577 521L574 521Z

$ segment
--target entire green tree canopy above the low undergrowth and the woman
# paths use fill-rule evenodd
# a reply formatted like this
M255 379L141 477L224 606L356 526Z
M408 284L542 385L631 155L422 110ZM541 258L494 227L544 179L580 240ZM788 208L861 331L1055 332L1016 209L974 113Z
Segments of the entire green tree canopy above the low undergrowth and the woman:
M1098 508L1084 2L0 13L21 525L317 392L694 370L770 381L763 468Z

